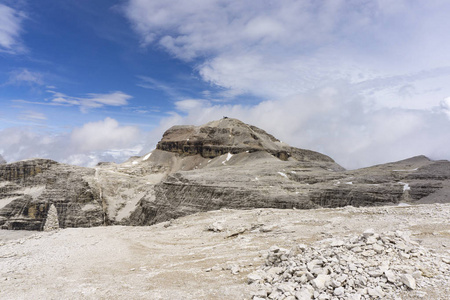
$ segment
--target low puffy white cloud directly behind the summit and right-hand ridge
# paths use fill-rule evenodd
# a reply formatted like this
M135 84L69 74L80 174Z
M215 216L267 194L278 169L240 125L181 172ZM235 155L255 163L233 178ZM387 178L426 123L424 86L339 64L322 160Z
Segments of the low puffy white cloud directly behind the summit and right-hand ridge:
M363 96L344 81L258 105L196 101L163 119L154 139L172 125L200 125L223 116L263 128L292 146L325 153L349 169L415 155L450 158L450 132L444 130L450 119L442 110L368 109Z

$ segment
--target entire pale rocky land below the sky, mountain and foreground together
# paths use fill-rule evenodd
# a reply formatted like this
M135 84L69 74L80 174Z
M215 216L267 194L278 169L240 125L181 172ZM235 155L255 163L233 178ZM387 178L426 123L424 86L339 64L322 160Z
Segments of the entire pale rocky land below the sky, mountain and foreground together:
M450 293L448 161L345 170L230 118L121 164L3 161L0 299Z

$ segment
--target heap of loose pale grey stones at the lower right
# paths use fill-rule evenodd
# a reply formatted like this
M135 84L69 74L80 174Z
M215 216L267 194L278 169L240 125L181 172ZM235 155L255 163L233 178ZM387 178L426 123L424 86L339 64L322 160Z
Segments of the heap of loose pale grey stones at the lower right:
M450 278L450 261L410 240L408 232L327 239L314 247L291 250L273 246L266 263L248 275L262 299L401 299L421 288L442 288Z

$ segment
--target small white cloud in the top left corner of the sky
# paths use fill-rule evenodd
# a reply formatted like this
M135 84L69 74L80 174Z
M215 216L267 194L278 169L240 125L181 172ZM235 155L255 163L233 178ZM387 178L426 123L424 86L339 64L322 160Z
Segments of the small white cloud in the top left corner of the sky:
M0 3L0 52L19 53L24 50L20 42L25 15Z

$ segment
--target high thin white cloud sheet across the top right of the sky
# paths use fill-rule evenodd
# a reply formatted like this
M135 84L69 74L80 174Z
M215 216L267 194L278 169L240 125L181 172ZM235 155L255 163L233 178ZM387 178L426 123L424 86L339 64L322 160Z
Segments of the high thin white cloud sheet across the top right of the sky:
M124 11L144 44L194 61L206 81L268 99L337 79L364 82L449 66L450 42L442 36L450 29L450 4L391 2L130 0ZM378 90L390 88L378 82Z

